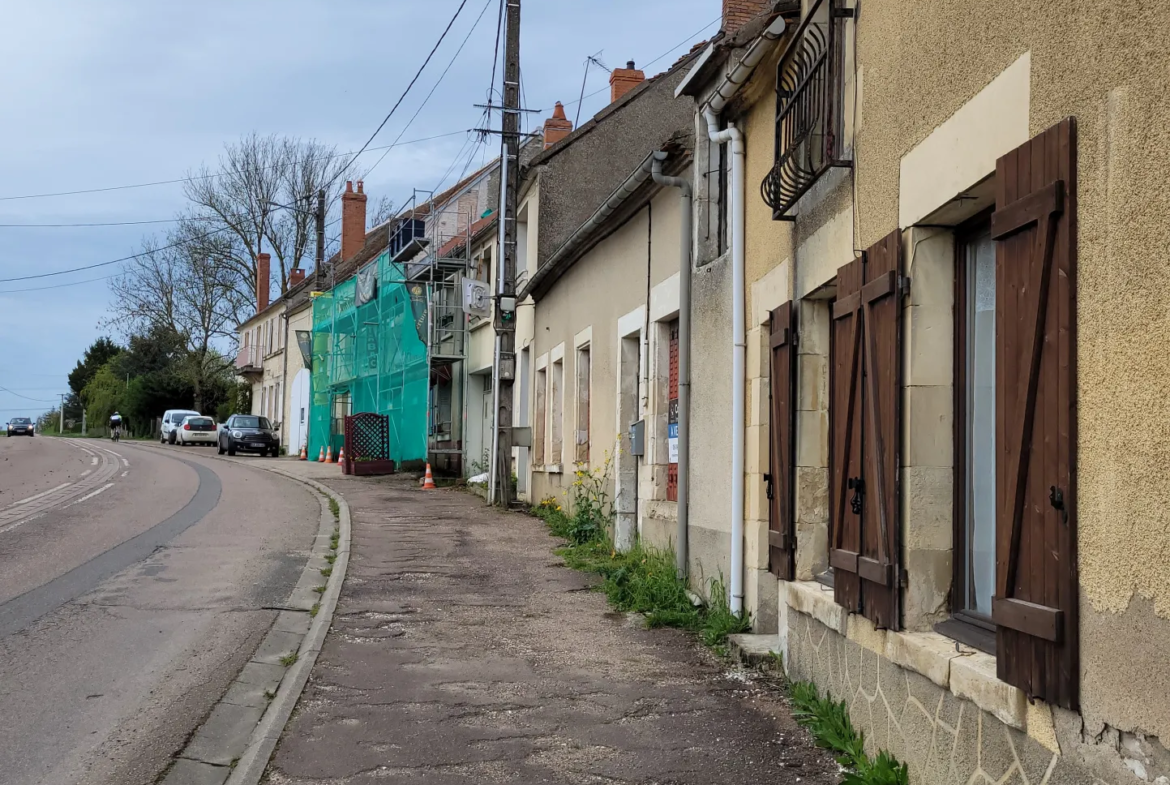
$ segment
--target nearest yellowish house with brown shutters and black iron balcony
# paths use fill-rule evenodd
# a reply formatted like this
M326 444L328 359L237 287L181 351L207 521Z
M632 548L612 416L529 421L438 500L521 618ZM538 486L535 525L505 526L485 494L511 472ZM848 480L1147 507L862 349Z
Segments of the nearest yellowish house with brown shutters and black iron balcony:
M1170 778L1166 29L724 0L681 81L693 580L911 781Z

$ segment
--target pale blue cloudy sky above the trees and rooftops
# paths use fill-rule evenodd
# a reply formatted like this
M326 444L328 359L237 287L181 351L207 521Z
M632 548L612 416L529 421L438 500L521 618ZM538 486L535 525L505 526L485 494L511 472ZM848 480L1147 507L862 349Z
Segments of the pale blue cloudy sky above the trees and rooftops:
M8 4L0 60L0 280L109 262L170 226L27 225L167 221L184 207L181 183L27 197L180 179L204 164L214 168L225 144L253 131L356 152L460 2ZM498 137L480 145L467 132L481 125L475 104L488 96L497 8L498 0L466 0L371 146L399 135L404 144L366 152L356 164L373 166L365 177L371 209L384 195L401 205L412 188L440 190L464 165L498 154ZM720 0L526 0L523 103L541 112L524 122L538 128L557 101L576 118L590 55L610 68L633 60L647 76L669 68L715 33L721 8ZM590 68L581 123L608 102L607 80ZM123 338L103 328L110 294L101 278L118 269L0 281L0 422L48 409L68 392L68 373L95 338Z

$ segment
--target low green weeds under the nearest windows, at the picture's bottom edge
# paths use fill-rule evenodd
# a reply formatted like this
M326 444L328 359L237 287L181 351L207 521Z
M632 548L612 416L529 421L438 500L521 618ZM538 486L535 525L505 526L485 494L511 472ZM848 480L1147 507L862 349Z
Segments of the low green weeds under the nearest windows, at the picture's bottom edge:
M866 755L866 739L849 721L845 701L833 702L821 697L812 682L792 682L789 686L792 717L808 729L817 744L831 750L845 769L842 785L908 785L909 771L904 763L882 750L876 758Z

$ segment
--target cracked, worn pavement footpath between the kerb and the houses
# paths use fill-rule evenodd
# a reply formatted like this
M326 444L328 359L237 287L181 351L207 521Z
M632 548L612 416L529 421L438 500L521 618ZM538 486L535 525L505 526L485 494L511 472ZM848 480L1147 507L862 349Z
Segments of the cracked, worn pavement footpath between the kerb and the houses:
M294 467L349 502L352 556L264 781L838 781L773 690L610 612L539 521Z

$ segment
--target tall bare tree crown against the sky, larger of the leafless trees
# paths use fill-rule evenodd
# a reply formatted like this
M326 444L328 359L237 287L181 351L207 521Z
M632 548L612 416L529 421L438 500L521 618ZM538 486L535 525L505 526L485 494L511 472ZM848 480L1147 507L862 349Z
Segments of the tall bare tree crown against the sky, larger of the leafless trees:
M317 191L325 188L326 206L335 205L345 163L335 147L315 140L252 133L227 145L218 171L204 166L190 175L184 186L192 204L188 218L204 234L230 239L225 261L253 299L256 256L271 253L283 294L291 270L315 253Z

